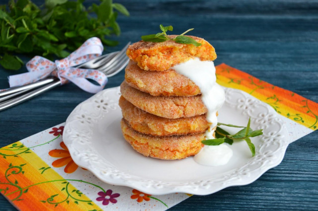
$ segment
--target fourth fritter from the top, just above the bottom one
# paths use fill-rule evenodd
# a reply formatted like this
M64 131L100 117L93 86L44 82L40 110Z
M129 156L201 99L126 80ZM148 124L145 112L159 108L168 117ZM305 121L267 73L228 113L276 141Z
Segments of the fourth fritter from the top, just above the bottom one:
M119 99L119 106L124 119L134 130L152 136L203 133L211 125L205 114L177 119L159 117L132 105L123 96Z

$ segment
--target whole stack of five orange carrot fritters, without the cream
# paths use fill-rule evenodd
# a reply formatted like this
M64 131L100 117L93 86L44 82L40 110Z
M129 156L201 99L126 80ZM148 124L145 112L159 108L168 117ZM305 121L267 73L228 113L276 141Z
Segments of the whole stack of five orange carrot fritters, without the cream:
M189 37L202 45L140 41L127 50L131 60L120 86L121 128L126 141L144 156L182 159L196 155L211 125L199 87L173 70L174 65L195 57L216 58L207 41Z

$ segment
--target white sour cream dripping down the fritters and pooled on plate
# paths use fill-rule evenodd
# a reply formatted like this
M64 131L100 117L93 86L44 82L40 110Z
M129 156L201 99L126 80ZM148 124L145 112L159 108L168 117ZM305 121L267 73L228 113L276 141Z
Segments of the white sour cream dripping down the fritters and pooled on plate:
M213 139L212 128L218 124L216 113L225 101L224 90L216 83L213 61L201 61L199 58L194 58L173 66L173 69L188 77L200 88L202 102L208 108L207 121L212 123L205 134L206 139ZM232 155L232 150L226 144L204 146L194 160L201 165L218 166L226 164Z

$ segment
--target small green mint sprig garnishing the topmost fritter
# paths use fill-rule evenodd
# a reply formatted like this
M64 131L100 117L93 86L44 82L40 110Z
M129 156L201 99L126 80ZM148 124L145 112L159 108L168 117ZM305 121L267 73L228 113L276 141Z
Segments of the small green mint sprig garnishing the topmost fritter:
M171 39L168 37L166 34L167 31L172 31L173 27L172 26L162 26L160 24L160 30L162 32L159 32L157 34L153 35L145 35L141 36L141 39L146 42L154 42L154 43L161 43L166 40L173 40L176 43L181 43L181 44L192 44L195 47L201 46L201 43L196 42L194 39L184 36L185 33L192 31L193 29L188 29L187 31L183 32L181 35L176 36L175 38Z

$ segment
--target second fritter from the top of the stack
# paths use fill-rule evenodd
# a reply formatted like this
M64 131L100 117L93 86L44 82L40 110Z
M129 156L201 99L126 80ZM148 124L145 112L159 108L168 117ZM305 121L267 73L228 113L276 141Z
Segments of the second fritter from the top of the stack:
M192 96L200 94L200 88L193 81L173 69L145 71L132 60L125 69L125 80L130 86L153 96Z

